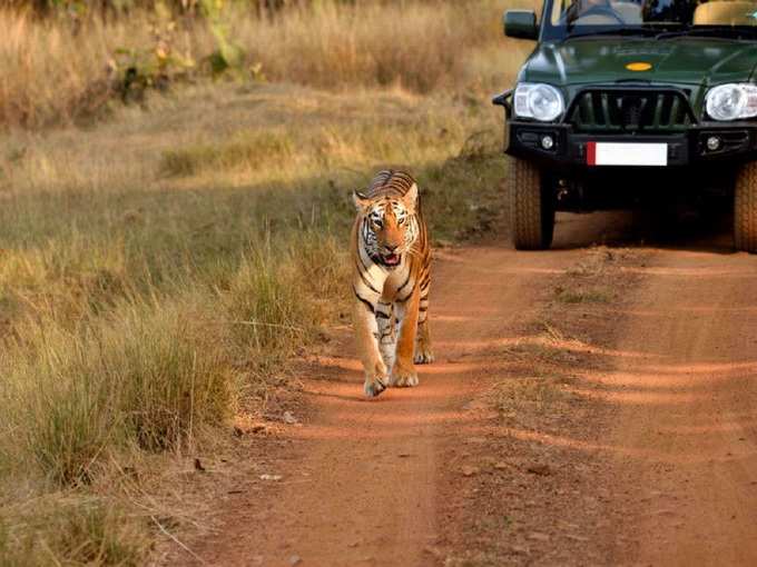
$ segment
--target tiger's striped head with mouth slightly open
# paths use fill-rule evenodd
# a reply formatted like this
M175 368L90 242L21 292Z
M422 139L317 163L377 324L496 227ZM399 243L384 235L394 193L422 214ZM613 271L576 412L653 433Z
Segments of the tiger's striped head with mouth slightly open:
M417 238L417 185L402 197L380 195L365 197L353 193L361 220L358 238L373 261L389 269L402 263Z

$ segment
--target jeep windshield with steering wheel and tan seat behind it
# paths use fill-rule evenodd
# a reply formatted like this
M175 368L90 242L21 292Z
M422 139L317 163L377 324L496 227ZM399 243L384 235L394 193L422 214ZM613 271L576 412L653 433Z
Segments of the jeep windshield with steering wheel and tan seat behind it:
M592 36L757 39L757 0L548 0L542 40Z

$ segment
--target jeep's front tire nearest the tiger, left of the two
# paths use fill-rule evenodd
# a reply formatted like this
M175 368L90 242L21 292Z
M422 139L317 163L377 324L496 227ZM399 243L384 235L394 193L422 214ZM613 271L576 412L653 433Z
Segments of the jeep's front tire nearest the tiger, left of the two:
M545 250L554 235L554 197L535 166L510 160L510 226L517 250Z

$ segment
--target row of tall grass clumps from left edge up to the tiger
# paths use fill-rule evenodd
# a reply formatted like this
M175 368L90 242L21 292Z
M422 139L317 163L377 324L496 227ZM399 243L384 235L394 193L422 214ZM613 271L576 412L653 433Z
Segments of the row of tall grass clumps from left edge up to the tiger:
M114 290L101 314L81 298L75 320L50 298L12 321L0 351L0 471L26 461L56 485L86 485L112 451L183 449L223 425L244 371L281 361L323 317L305 285L309 252L264 241L237 253L213 270L213 288L198 273L174 298L174 286ZM319 285L341 277L321 272Z

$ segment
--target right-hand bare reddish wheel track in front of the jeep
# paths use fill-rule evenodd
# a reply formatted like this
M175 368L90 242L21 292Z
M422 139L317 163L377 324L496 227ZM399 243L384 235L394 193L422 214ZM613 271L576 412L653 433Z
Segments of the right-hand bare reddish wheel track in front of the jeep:
M662 250L643 270L616 369L608 445L645 565L757 564L757 262ZM619 493L622 493L620 490Z

